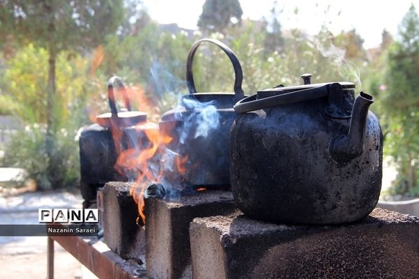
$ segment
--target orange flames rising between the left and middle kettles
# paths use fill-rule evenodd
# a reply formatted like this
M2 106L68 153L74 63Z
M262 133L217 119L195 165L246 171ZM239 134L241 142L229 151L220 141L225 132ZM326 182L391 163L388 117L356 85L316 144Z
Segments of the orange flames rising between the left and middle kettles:
M89 77L91 82L97 85L99 93L96 94L96 100L94 104L103 103L103 86L96 75L96 70L105 57L105 50L103 45L97 47L92 55L92 61L89 69ZM133 109L145 111L149 114L149 119L157 121L159 119L159 110L157 109L155 100L148 98L145 92L142 90L140 85L126 86L124 89L118 89L115 87L115 100L135 100L137 103ZM126 96L124 96L124 94ZM125 102L126 103L126 102ZM126 107L128 108L128 107ZM92 107L89 113L89 119L92 122L96 122L97 112L101 111L100 107ZM163 178L163 166L159 162L159 158L164 158L165 153L168 151L167 145L172 142L170 136L172 128L174 126L168 126L166 130L159 131L159 126L155 123L141 122L135 125L136 138L138 141L133 146L124 146L124 128L119 127L117 121L110 121L110 131L112 133L112 139L115 144L115 150L117 151L117 162L115 169L120 174L129 174L135 177L128 177L130 181L134 181L133 187L131 188L131 195L135 202L138 204L139 217L142 220L142 224L145 224L144 215L144 190L145 187L150 183L159 183ZM175 157L175 166L178 174L186 173L186 163L188 162L188 156ZM140 220L138 220L138 223Z

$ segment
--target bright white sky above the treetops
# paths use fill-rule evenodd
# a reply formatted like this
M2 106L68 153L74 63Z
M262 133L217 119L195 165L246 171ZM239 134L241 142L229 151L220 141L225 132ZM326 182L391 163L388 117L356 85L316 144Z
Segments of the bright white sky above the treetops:
M160 23L177 23L179 27L197 29L205 0L143 0L151 17ZM387 29L395 35L403 16L415 5L419 13L419 0L317 0L277 1L282 29L299 28L309 34L317 33L322 24L339 33L353 28L365 40L364 47L381 43L381 32ZM243 18L259 20L269 17L273 0L240 0ZM297 7L298 13L294 10ZM327 13L325 13L327 10Z

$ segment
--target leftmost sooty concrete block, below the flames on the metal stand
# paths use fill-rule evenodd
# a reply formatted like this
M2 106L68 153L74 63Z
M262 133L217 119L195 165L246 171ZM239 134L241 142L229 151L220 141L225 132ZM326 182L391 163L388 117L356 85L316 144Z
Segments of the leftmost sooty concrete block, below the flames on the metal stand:
M130 195L131 183L108 182L101 190L103 241L124 259L145 261L145 231L136 220L138 206Z

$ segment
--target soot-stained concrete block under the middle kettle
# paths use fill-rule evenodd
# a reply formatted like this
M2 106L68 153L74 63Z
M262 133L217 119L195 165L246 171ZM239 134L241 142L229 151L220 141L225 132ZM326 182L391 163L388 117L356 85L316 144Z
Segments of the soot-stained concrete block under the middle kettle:
M198 191L176 202L145 199L147 276L191 278L189 224L196 217L234 212L233 195L227 190Z

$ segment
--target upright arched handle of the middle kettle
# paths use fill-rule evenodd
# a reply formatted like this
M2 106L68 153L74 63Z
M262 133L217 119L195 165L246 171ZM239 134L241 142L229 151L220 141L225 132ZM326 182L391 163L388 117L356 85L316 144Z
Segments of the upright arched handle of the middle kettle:
M196 50L198 49L201 43L208 42L217 45L225 52L230 59L231 63L233 64L234 73L235 73L235 81L234 81L234 93L235 93L235 100L242 100L244 98L244 93L242 90L242 82L243 82L243 72L242 66L240 66L240 61L237 59L237 56L234 54L233 50L230 49L227 45L221 43L219 40L214 40L210 38L204 38L198 40L196 43L193 44L191 51L188 55L188 60L186 61L186 82L188 84L189 93L193 94L196 93L195 82L193 82L193 73L192 73L192 63L193 63L193 56L195 56Z

